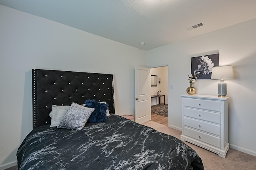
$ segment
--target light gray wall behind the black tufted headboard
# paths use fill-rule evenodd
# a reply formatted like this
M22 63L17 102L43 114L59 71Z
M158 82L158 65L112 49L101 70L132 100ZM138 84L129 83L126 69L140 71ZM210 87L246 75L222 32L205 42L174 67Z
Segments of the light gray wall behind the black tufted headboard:
M32 68L114 74L116 114L134 114L146 51L0 5L0 169L32 130Z

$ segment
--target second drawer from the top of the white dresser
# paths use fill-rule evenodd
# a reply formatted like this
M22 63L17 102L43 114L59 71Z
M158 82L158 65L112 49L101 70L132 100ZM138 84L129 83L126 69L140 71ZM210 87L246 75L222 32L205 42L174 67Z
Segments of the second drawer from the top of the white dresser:
M220 113L184 107L184 116L220 124Z

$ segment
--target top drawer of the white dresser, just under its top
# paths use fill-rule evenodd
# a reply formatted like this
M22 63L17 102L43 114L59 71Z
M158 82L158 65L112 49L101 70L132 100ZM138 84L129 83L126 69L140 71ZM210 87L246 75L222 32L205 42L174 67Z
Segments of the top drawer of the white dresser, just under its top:
M221 102L215 100L202 100L194 98L184 98L184 106L212 111L221 111Z

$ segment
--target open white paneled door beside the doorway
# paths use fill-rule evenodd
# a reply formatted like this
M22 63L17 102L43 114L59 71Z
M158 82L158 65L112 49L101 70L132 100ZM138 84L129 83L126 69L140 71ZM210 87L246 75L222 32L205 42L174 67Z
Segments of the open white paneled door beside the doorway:
M151 120L150 68L135 66L135 122Z

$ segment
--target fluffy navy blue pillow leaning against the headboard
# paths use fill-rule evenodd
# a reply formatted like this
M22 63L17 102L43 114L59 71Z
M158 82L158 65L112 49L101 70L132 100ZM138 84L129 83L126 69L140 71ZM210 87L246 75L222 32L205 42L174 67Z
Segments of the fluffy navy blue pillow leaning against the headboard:
M108 109L108 104L100 103L95 99L88 99L84 102L86 107L94 108L94 111L90 115L88 122L102 122L106 121L108 117L106 116L106 110Z

